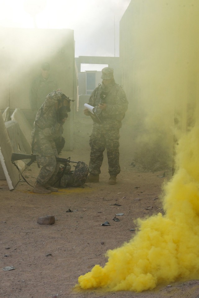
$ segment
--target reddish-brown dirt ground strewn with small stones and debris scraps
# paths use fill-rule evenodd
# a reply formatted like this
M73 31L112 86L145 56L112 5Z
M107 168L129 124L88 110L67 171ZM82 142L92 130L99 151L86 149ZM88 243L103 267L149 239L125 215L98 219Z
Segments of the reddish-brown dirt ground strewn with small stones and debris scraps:
M88 164L91 129L90 119L77 118L74 150L63 151L61 156ZM33 193L24 181L13 191L9 191L6 181L0 181L1 298L199 297L198 280L176 281L141 293L73 289L80 275L95 264L105 265L107 250L120 247L133 237L135 219L163 212L161 187L171 178L169 170L144 172L138 165L133 167L132 161L132 128L124 123L120 139L121 173L116 185L107 183L106 157L100 182L86 184L84 188L65 188L42 195ZM34 185L38 173L37 165L33 164L23 174ZM67 212L69 209L74 212ZM119 222L113 220L117 213L124 213ZM44 215L55 215L55 224L39 225L37 219ZM105 221L110 226L102 226ZM3 271L6 266L15 269Z

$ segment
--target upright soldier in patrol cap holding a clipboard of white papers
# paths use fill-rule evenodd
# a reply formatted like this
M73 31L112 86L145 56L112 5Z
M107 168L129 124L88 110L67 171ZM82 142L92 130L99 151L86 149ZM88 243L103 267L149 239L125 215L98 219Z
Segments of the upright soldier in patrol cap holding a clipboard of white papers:
M86 182L99 182L100 167L103 162L103 152L106 148L109 164L109 184L116 184L116 176L120 173L119 165L119 129L127 111L128 101L122 88L115 83L113 69L105 67L102 70L102 84L90 96L89 105L94 106L99 121L93 122L90 137L90 162ZM85 115L92 114L86 108ZM94 119L94 117L92 116Z

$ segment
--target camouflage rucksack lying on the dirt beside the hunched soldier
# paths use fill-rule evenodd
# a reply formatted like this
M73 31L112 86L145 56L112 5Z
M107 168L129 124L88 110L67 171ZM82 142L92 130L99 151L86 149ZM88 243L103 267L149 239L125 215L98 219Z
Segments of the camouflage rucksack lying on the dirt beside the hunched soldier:
M78 187L83 186L86 182L86 178L88 176L88 166L83 161L79 161L75 166L75 170L67 170L63 174L60 170L58 172L58 179L57 183L55 184L58 187Z

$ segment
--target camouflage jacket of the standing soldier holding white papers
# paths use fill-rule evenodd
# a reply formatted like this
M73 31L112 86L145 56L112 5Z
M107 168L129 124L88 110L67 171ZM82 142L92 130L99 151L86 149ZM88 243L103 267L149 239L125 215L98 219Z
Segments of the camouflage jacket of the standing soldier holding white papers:
M98 107L100 102L106 104L105 110ZM102 124L93 122L94 127L102 129L121 128L121 121L128 108L127 97L122 86L116 84L114 80L109 86L99 85L92 92L89 104L95 107L95 112L102 122Z

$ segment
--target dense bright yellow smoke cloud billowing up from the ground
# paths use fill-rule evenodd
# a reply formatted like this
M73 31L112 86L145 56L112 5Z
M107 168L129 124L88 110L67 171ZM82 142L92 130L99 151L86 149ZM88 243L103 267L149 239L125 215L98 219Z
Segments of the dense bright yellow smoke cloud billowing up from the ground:
M138 220L139 231L122 247L107 252L104 268L78 278L82 289L153 289L158 284L199 278L199 128L183 136L177 170L164 187L164 211Z

